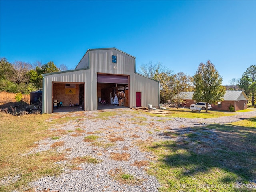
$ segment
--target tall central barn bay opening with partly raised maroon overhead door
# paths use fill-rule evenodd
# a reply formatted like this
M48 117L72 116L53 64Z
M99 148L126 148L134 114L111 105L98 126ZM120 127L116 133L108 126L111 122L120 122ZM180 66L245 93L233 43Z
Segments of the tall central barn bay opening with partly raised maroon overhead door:
M118 98L118 107L129 107L128 76L98 74L97 76L98 110L117 108L114 102L115 95Z

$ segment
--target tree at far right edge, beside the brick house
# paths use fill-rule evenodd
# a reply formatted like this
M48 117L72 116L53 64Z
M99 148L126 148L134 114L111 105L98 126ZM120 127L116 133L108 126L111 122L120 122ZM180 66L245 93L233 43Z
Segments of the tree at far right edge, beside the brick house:
M252 105L254 105L254 93L255 90L255 82L256 82L256 65L251 65L246 69L242 78L238 82L238 87L243 89L246 95L252 96Z

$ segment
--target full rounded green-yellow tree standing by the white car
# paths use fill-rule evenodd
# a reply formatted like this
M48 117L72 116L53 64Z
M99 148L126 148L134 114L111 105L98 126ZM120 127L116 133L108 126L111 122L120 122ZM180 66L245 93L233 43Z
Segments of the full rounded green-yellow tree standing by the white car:
M223 100L226 89L221 85L222 77L210 60L206 64L200 63L193 78L195 89L193 99L196 102L206 102L206 112L208 111L208 103Z

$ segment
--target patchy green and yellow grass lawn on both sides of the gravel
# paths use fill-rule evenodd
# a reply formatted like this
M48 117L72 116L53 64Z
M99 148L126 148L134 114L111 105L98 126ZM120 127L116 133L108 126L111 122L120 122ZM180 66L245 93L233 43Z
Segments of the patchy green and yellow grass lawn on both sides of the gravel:
M212 118L237 114L212 110L207 113L192 112L188 109L171 111L173 113L165 116L167 119L168 117ZM87 118L102 120L112 116L121 117L122 113L134 115L134 118L126 123L136 123L138 126L146 120L145 114L149 119L150 116L162 116L124 110L118 113L98 112ZM58 176L63 167L54 162L65 160L64 153L56 152L56 149L52 148L45 152L24 154L36 147L34 143L39 140L46 137L57 140L63 134L67 134L68 132L61 130L65 122L73 122L75 126L83 118L82 112L76 113L75 116L58 114L11 116L0 113L0 179L20 176L19 180L10 180L8 185L0 186L0 191L22 191L29 182L42 176ZM56 128L56 131L48 131L49 128ZM76 131L82 132L83 129L78 128ZM161 133L160 129L150 132L152 137ZM166 129L164 134L170 139L154 143L143 141L138 144L156 157L156 161L147 166L146 170L156 176L162 184L160 191L245 192L252 186L252 181L255 182L256 118L248 118L232 124ZM91 144L94 145L104 145L93 135L85 139L91 139L93 141ZM106 148L108 148L107 144ZM72 162L67 166L72 166Z

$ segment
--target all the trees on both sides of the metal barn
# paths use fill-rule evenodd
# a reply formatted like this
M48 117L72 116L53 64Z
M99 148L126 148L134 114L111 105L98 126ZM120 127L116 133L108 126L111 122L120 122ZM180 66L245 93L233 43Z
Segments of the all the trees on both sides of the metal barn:
M68 70L65 65L58 68L54 62L46 64L35 62L15 61L8 62L6 58L0 60L0 91L11 93L29 94L42 88L42 74ZM216 103L221 101L226 90L244 90L246 95L252 98L254 105L254 93L256 92L256 66L252 65L242 75L242 78L230 80L230 87L222 86L222 77L214 64L209 60L200 63L194 76L178 72L164 67L161 63L149 62L142 64L138 72L160 82L160 102L179 104L183 102L184 92L194 91L194 100L197 102ZM206 107L207 108L207 107Z

